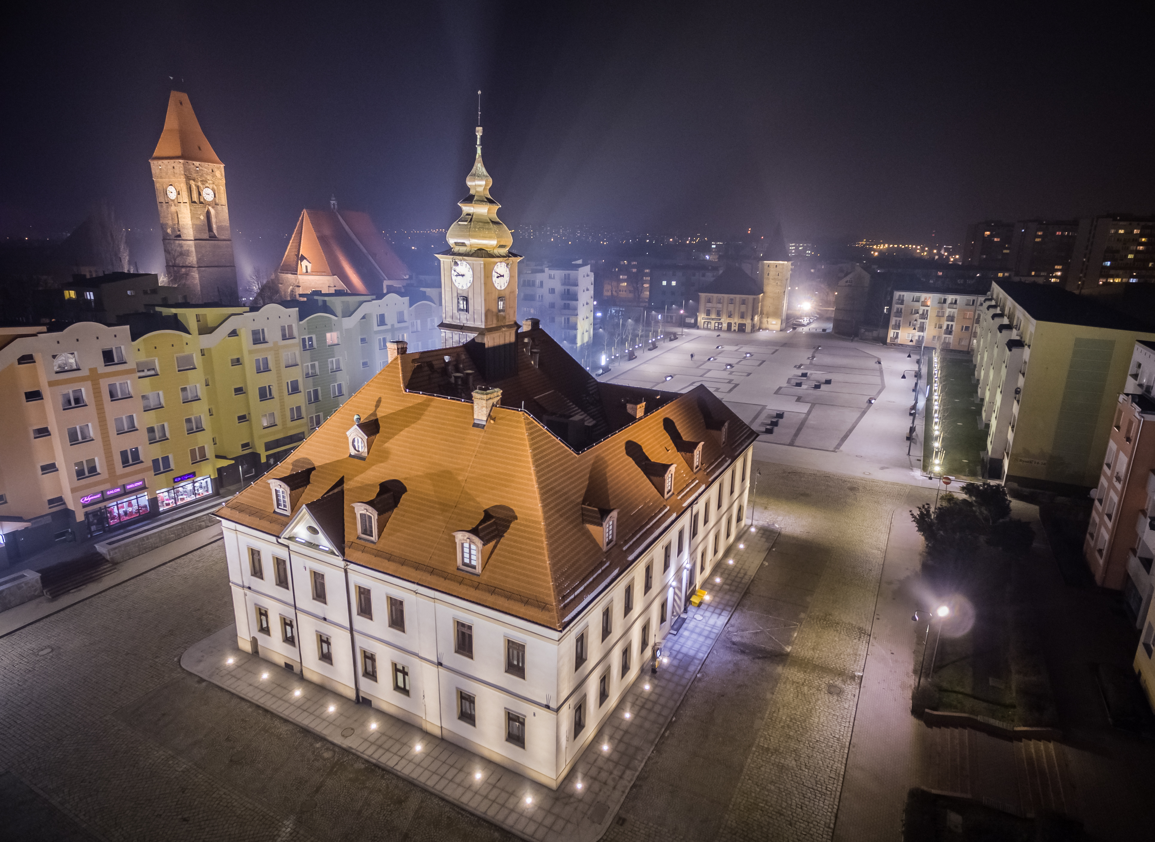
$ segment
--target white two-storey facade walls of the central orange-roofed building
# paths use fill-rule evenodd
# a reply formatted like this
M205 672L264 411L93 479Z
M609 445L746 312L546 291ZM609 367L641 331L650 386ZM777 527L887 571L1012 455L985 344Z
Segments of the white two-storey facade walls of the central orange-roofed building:
M751 460L747 448L700 489L561 632L320 549L304 507L280 537L223 521L238 646L557 788L649 669L687 591L709 589L710 572L748 529ZM393 623L390 599L403 606ZM469 654L457 644L457 624L470 629ZM509 666L511 643L514 653L524 647L523 677ZM467 709L472 698L472 722L462 715L463 694ZM523 745L511 737L511 717L523 720Z

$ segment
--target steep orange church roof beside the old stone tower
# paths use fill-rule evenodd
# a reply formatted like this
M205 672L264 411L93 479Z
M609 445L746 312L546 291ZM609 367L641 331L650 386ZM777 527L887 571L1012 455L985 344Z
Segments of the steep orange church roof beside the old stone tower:
M312 274L336 275L349 292L359 295L379 295L387 283L409 277L409 268L359 210L303 210L280 271L299 274L303 256Z

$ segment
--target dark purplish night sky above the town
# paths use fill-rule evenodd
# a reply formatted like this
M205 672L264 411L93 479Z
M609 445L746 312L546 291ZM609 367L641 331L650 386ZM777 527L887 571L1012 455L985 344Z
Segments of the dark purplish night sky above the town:
M985 217L1155 204L1149 7L249 6L25 10L0 236L65 232L107 199L159 269L148 158L170 88L226 165L243 274L330 193L387 231L445 228L478 88L513 228L957 243Z

